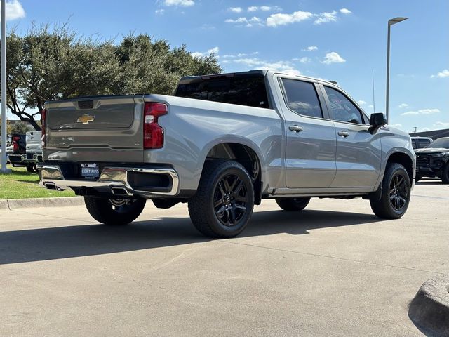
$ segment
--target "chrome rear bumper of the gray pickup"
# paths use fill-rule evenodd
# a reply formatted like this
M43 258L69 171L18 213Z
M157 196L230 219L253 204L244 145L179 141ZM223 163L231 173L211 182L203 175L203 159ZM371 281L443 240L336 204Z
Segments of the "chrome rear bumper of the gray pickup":
M179 178L170 168L135 168L107 166L102 169L98 180L65 179L60 166L38 164L41 181L39 185L52 190L93 189L118 197L175 196L178 193Z

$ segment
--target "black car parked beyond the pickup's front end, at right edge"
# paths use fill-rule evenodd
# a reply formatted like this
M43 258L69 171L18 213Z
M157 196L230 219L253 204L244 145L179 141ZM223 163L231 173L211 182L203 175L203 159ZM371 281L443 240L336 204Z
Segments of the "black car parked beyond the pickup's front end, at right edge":
M438 138L415 153L416 181L422 177L438 177L449 184L449 137Z

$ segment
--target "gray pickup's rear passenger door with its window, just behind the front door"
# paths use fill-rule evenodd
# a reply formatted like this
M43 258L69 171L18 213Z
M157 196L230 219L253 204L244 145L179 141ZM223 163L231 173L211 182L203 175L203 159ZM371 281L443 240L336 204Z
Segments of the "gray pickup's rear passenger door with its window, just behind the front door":
M335 177L335 126L313 81L279 79L286 123L286 186L329 187Z

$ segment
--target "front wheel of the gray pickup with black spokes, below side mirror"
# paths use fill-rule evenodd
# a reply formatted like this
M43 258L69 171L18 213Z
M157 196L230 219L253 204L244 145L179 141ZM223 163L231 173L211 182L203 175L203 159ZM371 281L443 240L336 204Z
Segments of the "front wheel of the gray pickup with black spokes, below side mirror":
M385 170L380 199L370 199L371 209L384 219L398 219L403 216L410 202L410 178L404 166L392 163Z

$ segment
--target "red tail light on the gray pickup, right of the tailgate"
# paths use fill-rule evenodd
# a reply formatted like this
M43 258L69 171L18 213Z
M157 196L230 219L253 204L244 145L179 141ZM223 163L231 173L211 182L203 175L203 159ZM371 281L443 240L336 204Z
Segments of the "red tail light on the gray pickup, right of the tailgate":
M143 113L143 147L144 149L160 149L163 147L163 128L157 124L160 116L168 113L163 103L145 103Z

